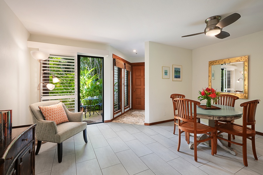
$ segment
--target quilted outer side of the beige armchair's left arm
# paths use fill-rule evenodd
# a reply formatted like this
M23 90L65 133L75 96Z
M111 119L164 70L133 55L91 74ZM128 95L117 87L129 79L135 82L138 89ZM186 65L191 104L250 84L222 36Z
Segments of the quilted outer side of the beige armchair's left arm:
M36 120L36 124L37 140L54 142L54 135L58 133L56 123L48 120Z

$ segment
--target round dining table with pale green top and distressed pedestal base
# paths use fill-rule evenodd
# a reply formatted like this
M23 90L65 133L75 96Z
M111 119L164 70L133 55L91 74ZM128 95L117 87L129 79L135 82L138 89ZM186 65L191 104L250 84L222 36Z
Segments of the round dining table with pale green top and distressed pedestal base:
M201 104L202 106L205 104ZM197 113L197 118L203 118L203 119L208 119L208 125L214 127L214 120L236 120L242 117L243 115L243 110L242 108L235 108L231 106L225 106L225 105L220 105L220 104L213 104L212 106L215 106L220 108L220 109L204 109L199 106L196 107L196 113ZM205 123L207 124L207 123ZM200 134L197 139L204 139L204 137L207 137L206 134ZM229 151L232 155L237 155L236 150L226 146L221 139L218 139L219 142L217 142L218 146L223 148L224 150ZM203 142L205 143L205 142ZM199 144L199 143L198 143ZM205 143L208 144L209 143ZM191 142L189 144L189 148L193 148L194 144Z

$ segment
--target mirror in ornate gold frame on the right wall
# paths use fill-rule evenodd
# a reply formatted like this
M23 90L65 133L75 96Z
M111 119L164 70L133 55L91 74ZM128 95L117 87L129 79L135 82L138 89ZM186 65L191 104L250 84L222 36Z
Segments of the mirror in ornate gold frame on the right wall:
M217 89L221 94L248 99L248 55L210 61L208 87Z

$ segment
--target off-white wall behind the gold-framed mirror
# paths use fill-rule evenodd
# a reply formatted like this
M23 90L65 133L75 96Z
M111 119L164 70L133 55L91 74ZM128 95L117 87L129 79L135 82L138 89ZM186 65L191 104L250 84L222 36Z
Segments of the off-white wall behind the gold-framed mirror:
M256 131L263 132L263 31L222 41L193 50L192 99L197 99L198 90L208 86L208 62L248 55L248 99L238 99L235 107L245 101L261 99L256 112ZM240 107L241 108L241 107ZM241 119L235 120L241 123Z

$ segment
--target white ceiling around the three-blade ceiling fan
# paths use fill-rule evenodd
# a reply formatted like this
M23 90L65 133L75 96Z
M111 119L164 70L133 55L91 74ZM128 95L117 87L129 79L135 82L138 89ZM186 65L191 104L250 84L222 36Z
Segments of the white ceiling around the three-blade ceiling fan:
M129 57L144 57L144 42L195 49L263 30L262 0L4 0L31 34L94 41ZM230 36L200 34L205 20L232 13ZM137 50L136 53L133 50Z

